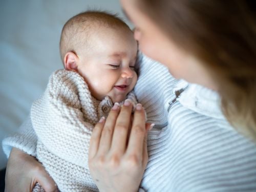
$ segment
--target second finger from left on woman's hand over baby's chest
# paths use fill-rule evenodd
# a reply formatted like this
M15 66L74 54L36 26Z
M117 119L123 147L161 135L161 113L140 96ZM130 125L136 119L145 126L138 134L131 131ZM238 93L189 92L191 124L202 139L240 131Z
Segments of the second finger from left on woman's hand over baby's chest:
M116 119L118 117L119 111L120 111L120 106L118 103L115 103L109 113L108 118L105 121L103 130L101 133L99 149L98 149L99 155L104 155L108 153L110 150L114 127L116 124Z

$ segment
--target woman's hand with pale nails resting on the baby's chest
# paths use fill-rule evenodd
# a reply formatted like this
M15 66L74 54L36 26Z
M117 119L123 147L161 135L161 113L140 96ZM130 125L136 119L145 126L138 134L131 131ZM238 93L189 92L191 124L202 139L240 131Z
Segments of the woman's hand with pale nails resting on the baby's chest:
M146 164L147 130L144 109L137 104L131 132L132 104L115 104L106 120L96 124L90 140L89 167L100 191L138 191ZM130 132L130 134L129 134Z

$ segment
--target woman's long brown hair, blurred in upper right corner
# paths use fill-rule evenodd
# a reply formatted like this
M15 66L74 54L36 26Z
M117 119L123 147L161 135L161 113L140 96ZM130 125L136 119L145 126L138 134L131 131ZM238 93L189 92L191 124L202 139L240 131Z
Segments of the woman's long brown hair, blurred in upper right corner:
M219 84L229 122L256 140L255 3L242 0L138 0L139 9Z

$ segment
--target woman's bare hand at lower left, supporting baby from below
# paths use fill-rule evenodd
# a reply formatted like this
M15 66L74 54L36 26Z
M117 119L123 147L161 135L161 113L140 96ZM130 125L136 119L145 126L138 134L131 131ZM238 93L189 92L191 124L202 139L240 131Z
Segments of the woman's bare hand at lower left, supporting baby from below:
M32 191L38 182L45 191L58 191L45 168L32 156L12 148L5 176L5 191Z

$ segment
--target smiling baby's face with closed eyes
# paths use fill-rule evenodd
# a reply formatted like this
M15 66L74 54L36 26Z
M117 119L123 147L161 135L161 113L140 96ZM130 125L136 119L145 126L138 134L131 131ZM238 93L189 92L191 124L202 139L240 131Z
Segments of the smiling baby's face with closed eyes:
M134 66L138 46L132 32L98 30L90 36L90 44L90 51L78 54L78 73L96 99L109 96L113 102L123 101L137 81Z

